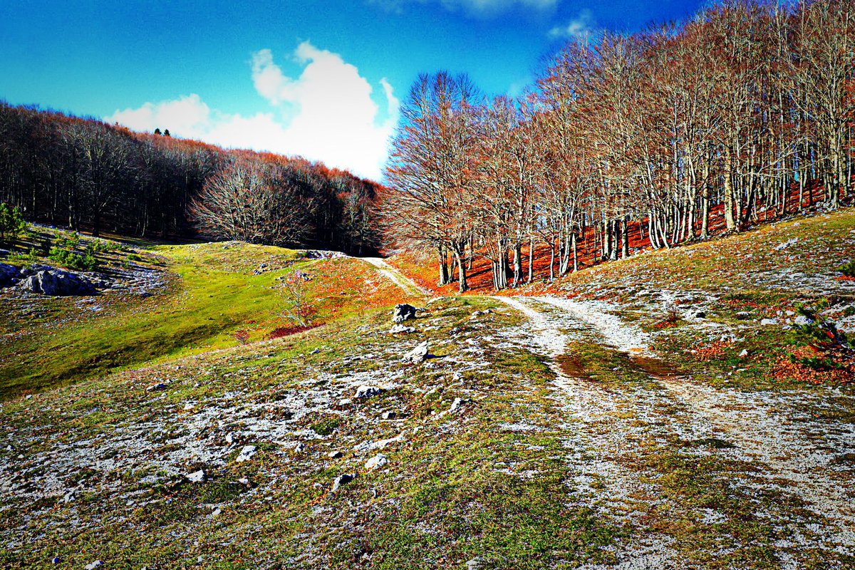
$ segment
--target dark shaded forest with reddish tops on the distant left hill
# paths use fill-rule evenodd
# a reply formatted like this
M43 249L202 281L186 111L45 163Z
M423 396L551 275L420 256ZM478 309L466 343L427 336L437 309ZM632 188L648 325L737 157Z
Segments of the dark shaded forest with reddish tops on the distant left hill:
M0 203L93 235L201 234L376 250L377 185L300 157L223 150L0 101Z

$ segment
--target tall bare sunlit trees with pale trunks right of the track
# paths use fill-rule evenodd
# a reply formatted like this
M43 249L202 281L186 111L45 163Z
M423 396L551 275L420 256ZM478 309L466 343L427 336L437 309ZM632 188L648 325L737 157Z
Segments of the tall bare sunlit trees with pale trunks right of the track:
M533 279L535 251L550 279L574 271L582 239L614 260L851 202L852 4L738 0L603 32L513 99L423 74L392 142L388 238L433 251L439 285L465 291L480 256L502 289Z

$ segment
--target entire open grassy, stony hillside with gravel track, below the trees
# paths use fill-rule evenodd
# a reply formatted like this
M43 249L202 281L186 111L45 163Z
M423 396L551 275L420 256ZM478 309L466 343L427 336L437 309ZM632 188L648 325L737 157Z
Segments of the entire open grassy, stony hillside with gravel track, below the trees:
M3 298L3 564L852 567L852 350L816 337L855 333L852 228L844 209L512 297L125 244L163 276L150 297ZM265 339L297 270L323 325Z

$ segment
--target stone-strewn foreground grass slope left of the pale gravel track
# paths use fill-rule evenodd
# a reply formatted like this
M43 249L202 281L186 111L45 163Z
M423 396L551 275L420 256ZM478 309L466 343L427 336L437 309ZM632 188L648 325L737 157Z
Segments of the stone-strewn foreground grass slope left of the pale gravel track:
M85 379L4 404L4 429L56 434L50 443L34 438L27 445L19 438L15 453L25 460L3 455L16 469L32 469L30 477L40 450L54 453L53 446L73 446L80 438L106 450L111 438L130 438L134 425L153 418L157 433L136 444L150 446L153 459L183 457L186 440L222 446L226 432L241 434L220 466L187 457L179 472L145 459L133 469L78 469L86 491L73 502L52 499L27 508L27 520L22 499L4 497L0 529L20 544L5 551L4 563L21 567L55 555L70 566L99 559L110 567L457 567L475 556L487 568L614 561L610 545L622 527L575 504L563 484L551 372L528 351L481 342L486 332L518 320L511 312L469 319L475 309L491 307L476 298L431 303L415 322L416 337L404 339L385 333L387 310L357 311L322 329ZM422 339L435 358L419 367L398 361ZM465 365L473 359L497 366ZM394 388L339 403L341 396L352 398L354 375L378 365L386 376L403 374ZM155 379L169 379L159 396L144 391ZM304 414L292 404L327 391L328 407ZM233 394L240 396L233 400ZM457 397L461 411L451 414ZM188 402L209 410L205 414L237 408L200 426L190 422L195 411L183 411ZM388 410L396 418L382 420ZM287 427L289 435L255 431L264 421ZM354 446L401 434L400 443L381 450L386 466L363 467L376 451ZM238 463L244 444L256 445L257 455ZM329 457L333 450L342 456ZM198 468L208 473L204 483L180 475ZM333 494L340 473L357 478ZM213 516L215 508L220 512Z

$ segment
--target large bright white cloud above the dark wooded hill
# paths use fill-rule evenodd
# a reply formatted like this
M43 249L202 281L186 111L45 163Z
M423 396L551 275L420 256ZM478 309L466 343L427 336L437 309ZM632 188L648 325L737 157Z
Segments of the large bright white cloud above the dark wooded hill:
M398 99L380 79L386 103L380 113L374 88L341 56L309 42L293 53L303 71L288 77L270 50L251 59L252 82L270 111L252 116L209 109L196 94L139 109L116 110L105 120L138 131L168 128L176 136L231 148L269 150L322 161L360 176L380 179L388 143L398 124ZM385 119L380 119L386 115Z

